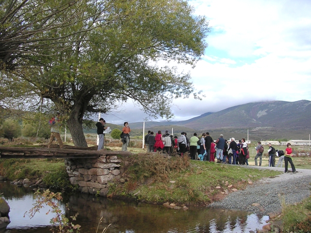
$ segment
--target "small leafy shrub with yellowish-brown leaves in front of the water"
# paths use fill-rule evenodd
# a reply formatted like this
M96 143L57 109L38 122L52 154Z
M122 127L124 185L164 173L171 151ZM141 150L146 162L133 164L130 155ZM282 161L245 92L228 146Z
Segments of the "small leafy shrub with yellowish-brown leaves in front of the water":
M46 214L48 215L50 212L55 215L51 219L51 223L55 226L57 233L78 233L80 232L80 225L74 225L69 219L66 217L66 212L63 212L61 209L60 203L63 200L61 193L53 193L49 189L45 190L42 194L39 190L35 192L35 201L34 207L24 214L26 214L33 218L37 212L39 212L42 208L44 208L44 204L49 206L51 210L49 210ZM67 209L68 206L67 206ZM76 220L78 214L75 216L70 216L72 220ZM54 232L54 229L52 229Z

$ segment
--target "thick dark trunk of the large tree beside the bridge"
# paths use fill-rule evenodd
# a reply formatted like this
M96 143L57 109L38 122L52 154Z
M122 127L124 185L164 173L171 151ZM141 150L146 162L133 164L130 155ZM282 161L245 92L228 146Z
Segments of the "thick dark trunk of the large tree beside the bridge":
M86 137L83 133L82 119L77 111L72 111L67 124L71 133L73 144L76 147L87 147Z

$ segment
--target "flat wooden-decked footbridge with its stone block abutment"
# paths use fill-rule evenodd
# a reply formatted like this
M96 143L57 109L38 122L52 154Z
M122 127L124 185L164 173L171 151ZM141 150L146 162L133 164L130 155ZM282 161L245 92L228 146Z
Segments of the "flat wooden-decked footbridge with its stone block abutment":
M78 184L82 193L106 196L109 183L125 182L121 179L122 162L132 153L96 149L0 147L0 158L63 158L70 183Z

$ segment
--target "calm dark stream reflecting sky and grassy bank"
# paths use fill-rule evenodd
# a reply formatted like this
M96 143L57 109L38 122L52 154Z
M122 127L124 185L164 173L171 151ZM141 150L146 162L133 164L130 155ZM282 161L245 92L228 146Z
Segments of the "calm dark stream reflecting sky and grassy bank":
M51 233L48 207L30 219L24 213L33 207L32 190L10 183L0 183L0 193L11 207L10 220L4 233ZM172 210L162 206L74 195L65 199L69 203L67 216L79 213L75 224L81 233L248 233L261 229L268 216L244 211L190 207L189 210ZM62 206L65 210L65 203Z

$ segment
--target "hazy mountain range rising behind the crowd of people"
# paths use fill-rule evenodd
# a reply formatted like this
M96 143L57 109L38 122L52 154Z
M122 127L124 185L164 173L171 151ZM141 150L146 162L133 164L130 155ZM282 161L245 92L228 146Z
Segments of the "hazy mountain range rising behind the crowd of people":
M311 128L311 101L252 102L216 113L208 112L183 121L148 121L146 123L145 130L150 128L155 132L157 132L156 129L163 131L171 127L177 127L180 131L180 127L184 127L188 132L198 134L206 131L224 132L242 134L242 137L246 138L245 133L251 133L256 140L260 138L308 140ZM142 126L142 122L131 123L131 129L142 129Z

